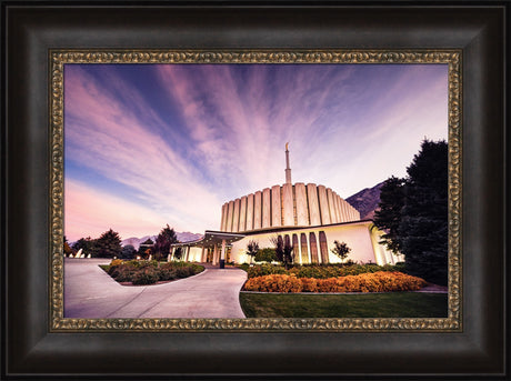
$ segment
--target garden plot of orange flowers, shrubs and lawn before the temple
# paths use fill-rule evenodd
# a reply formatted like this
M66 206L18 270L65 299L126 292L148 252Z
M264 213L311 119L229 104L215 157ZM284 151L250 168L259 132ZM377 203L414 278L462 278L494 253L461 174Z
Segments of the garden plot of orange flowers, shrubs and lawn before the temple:
M248 274L240 293L247 318L444 318L448 313L447 293L405 292L428 283L405 274L401 263L240 268Z

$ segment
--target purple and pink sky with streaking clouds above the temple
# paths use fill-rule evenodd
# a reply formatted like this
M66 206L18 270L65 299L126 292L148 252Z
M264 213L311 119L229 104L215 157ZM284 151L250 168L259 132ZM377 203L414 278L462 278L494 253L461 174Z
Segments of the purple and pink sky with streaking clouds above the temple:
M220 229L285 181L342 198L448 138L447 64L66 64L64 233Z

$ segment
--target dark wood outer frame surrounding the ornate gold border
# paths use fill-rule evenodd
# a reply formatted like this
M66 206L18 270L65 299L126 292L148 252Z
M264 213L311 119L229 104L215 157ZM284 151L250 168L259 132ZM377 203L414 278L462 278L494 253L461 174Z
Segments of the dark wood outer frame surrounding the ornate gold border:
M117 4L2 2L2 377L509 375L503 86L508 3ZM462 245L463 278L469 280L463 287L463 331L51 333L48 50L68 47L461 49Z

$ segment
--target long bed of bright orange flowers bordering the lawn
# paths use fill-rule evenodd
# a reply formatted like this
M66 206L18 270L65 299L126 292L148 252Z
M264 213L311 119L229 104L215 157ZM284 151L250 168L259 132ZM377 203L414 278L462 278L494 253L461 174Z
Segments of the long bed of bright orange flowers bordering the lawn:
M378 271L327 279L298 278L294 274L270 274L250 278L246 291L262 292L391 292L417 291L427 282L402 272Z

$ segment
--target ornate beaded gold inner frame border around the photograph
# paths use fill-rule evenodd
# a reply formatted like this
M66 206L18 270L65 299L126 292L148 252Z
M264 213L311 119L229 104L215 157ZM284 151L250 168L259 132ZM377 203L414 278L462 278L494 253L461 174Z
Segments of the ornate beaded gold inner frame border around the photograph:
M462 331L461 50L51 50L50 331ZM449 311L431 319L63 318L63 66L71 63L443 63L449 64Z

